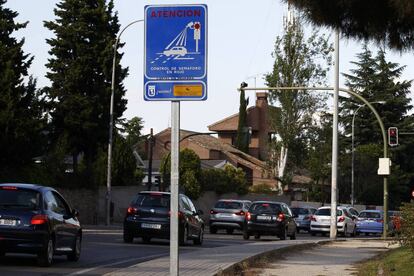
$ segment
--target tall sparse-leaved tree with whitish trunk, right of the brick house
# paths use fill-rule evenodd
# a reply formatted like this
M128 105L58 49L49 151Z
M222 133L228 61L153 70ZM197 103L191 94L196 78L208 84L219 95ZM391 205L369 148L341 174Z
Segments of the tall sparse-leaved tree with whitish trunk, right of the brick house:
M327 69L331 64L332 46L325 36L317 32L306 39L300 19L285 24L285 33L277 37L273 71L265 76L268 86L312 86L325 82ZM306 129L312 123L313 114L324 106L324 97L305 91L271 91L272 104L279 104L281 112L271 118L280 141L273 143L271 151L277 160L279 191L282 183L289 182L295 164L288 156L303 154L302 143L306 143ZM296 150L296 153L295 153ZM300 159L300 158L299 158ZM289 168L287 170L287 168ZM285 172L288 171L286 174ZM285 183L288 184L288 183Z

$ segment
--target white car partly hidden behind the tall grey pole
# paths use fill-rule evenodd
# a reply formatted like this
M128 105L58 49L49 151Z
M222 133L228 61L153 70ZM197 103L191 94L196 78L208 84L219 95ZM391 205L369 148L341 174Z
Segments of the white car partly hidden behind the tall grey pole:
M350 234L352 237L356 234L356 221L346 207L338 207L336 211L337 216L337 231L346 237ZM311 218L310 233L315 236L316 233L326 235L331 228L331 207L321 207L316 210Z

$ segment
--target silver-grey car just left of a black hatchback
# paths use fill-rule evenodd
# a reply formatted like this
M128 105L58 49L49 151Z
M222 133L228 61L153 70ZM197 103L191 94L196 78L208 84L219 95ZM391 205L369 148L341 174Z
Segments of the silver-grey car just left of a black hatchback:
M243 230L249 200L220 199L210 210L210 233L216 234L218 229L226 229L232 234L235 229Z

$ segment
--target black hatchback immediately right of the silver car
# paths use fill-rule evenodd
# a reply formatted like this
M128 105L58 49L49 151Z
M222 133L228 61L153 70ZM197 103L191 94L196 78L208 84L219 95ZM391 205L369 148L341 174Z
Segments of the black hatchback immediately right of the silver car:
M246 213L243 238L248 240L251 235L260 239L262 235L276 235L281 240L287 236L296 239L296 223L289 207L282 202L255 201Z

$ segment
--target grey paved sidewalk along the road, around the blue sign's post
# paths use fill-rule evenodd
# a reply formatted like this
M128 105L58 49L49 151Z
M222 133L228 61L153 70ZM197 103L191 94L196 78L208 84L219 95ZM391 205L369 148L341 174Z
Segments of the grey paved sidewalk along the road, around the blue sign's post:
M326 240L326 239L325 239ZM233 245L225 247L205 248L197 251L180 254L179 273L182 275L211 276L242 262L245 259L261 254L266 251L286 248L295 245L315 244L320 240L312 241L263 241ZM137 265L120 269L105 274L107 276L167 276L169 275L170 259L163 257L152 261L139 263Z

